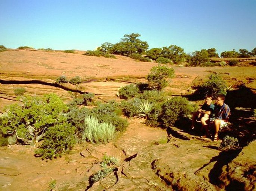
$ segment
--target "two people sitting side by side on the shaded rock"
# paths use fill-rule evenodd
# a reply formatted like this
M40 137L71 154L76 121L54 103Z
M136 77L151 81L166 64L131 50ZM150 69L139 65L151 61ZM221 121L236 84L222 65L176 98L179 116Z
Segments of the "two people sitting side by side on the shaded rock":
M216 99L216 103L212 104L212 96L206 96L204 104L193 113L191 129L195 127L195 121L200 120L202 127L201 130L205 130L207 137L213 141L219 140L218 132L222 128L227 127L227 122L230 115L230 108L224 103L225 95L219 94ZM213 136L210 130L214 131Z

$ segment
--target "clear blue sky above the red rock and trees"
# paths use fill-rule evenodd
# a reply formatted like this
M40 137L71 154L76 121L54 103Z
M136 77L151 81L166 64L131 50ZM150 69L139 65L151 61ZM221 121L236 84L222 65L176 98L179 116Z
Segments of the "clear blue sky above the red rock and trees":
M0 0L0 45L94 50L125 34L186 53L256 47L256 0Z

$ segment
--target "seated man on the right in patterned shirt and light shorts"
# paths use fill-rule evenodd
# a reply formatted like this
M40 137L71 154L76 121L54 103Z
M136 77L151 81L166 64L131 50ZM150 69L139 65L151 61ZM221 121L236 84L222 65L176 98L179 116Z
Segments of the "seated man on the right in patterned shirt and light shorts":
M225 95L219 94L216 99L215 108L214 108L214 118L206 119L205 124L203 125L204 130L206 131L206 137L211 138L209 128L213 128L214 136L213 141L219 140L218 132L228 126L228 119L230 115L230 108L224 103ZM204 120L204 119L203 119ZM204 136L203 136L204 137Z

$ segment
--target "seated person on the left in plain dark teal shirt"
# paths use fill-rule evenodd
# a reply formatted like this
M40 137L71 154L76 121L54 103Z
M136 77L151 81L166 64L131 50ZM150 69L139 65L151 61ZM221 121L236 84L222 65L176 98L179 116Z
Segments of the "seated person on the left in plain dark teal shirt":
M213 113L214 105L212 104L212 96L207 95L204 104L192 115L191 129L195 127L195 121L201 120L202 124L209 119L209 116Z

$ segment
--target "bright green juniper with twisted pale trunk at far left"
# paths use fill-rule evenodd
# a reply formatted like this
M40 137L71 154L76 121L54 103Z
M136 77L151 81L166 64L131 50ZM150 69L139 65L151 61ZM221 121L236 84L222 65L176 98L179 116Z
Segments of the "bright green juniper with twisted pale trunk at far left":
M35 145L43 139L49 127L62 124L67 106L55 94L40 97L25 96L22 104L12 104L6 109L0 129L5 135L16 134L24 144Z

